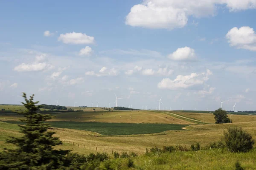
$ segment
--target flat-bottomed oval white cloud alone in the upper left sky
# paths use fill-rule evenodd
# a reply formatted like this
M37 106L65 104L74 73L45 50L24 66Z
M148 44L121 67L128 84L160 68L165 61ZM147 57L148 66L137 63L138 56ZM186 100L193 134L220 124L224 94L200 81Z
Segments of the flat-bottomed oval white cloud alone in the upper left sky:
M58 37L58 40L64 42L65 44L93 44L93 43L95 43L94 37L90 37L86 34L76 33L76 32L61 34L60 37Z

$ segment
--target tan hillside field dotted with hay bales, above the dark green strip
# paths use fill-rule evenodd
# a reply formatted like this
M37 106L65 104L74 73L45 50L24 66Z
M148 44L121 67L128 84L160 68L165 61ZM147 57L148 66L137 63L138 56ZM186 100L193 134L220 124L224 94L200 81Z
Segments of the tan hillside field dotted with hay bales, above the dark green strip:
M102 115L103 114L103 115ZM113 111L113 112L65 112L52 113L51 121L113 122L113 123L169 123L179 125L194 124L174 116L154 111ZM116 117L115 117L116 116ZM120 117L122 116L122 118ZM130 117L131 116L131 117ZM1 115L0 120L17 121L22 115Z

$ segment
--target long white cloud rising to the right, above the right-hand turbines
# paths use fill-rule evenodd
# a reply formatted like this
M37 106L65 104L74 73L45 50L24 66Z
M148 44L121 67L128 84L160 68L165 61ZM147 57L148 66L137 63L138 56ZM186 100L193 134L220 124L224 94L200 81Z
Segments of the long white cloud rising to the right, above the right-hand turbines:
M169 78L163 79L161 82L158 83L157 87L160 89L186 89L190 88L195 85L203 85L209 79L209 75L212 72L207 70L207 73L191 73L190 75L178 75L176 79L171 80Z

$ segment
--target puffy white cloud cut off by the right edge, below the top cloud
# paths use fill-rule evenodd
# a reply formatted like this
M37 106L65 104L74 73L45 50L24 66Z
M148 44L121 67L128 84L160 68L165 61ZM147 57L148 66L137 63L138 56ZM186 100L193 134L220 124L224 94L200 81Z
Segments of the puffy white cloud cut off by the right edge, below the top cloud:
M256 51L256 33L253 31L253 28L248 26L241 28L234 27L228 31L226 38L230 46Z

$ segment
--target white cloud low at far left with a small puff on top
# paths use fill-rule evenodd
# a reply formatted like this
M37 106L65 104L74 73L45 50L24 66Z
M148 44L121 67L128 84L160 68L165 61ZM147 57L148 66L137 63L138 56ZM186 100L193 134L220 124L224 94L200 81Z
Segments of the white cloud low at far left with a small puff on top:
M50 70L50 69L54 68L53 65L45 62L44 60L45 60L45 55L36 56L35 62L32 62L32 63L23 62L22 64L16 66L14 68L14 71L19 71L19 72L22 72L22 71L45 71L45 70Z

